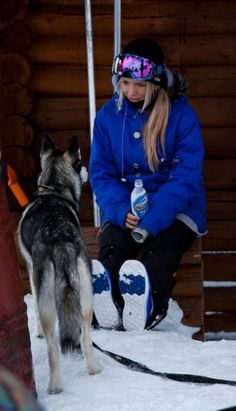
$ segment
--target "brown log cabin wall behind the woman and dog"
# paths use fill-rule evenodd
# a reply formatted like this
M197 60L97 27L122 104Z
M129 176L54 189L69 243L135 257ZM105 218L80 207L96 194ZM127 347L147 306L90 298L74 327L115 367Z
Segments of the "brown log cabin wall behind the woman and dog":
M30 197L35 189L42 132L50 133L61 147L71 134L78 134L82 157L88 164L84 2L3 3L2 139L5 159L17 170ZM113 1L93 0L92 14L99 108L112 93ZM126 0L122 2L121 31L122 44L140 36L157 40L167 66L187 77L190 102L199 114L206 148L209 232L203 238L205 329L236 331L236 2ZM14 224L21 211L10 192L9 204ZM93 224L88 184L82 197L81 221Z

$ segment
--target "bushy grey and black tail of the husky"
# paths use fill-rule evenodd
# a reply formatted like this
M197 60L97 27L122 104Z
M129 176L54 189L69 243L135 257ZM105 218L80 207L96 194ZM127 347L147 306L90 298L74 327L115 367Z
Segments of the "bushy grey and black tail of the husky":
M69 244L55 247L55 301L63 354L79 347L81 329L80 279L77 256Z

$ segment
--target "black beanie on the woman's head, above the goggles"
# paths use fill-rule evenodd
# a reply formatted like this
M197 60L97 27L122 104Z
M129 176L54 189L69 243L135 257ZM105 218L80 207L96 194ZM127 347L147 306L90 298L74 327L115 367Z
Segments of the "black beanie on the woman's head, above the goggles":
M164 53L161 47L154 40L147 38L131 41L123 48L122 54L135 54L151 60L157 65L164 64Z

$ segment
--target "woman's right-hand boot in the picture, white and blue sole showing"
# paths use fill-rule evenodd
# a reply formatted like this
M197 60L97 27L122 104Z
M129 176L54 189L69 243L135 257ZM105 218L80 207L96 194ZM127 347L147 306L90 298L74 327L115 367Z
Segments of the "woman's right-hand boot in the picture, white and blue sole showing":
M150 282L144 265L137 260L127 260L119 271L119 286L124 299L124 329L144 330L153 309Z

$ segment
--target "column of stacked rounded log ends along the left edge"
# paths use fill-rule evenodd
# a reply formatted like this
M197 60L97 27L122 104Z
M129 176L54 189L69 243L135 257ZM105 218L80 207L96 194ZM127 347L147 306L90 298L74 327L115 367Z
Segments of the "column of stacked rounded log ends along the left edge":
M27 12L26 0L0 5L1 146L5 164L14 168L23 189L30 193L35 187L38 160L32 146L34 93L29 84L32 63L27 55L32 33L24 21ZM8 199L11 210L19 209L10 191Z

